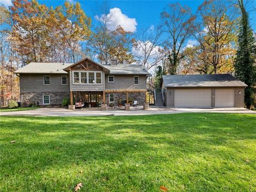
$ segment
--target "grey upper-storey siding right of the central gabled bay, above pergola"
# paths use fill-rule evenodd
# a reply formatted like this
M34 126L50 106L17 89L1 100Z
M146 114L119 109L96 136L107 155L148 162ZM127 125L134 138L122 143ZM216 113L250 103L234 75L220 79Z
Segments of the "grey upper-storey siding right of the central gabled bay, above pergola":
M105 76L106 90L146 90L147 76L146 75L110 75L114 76L114 83L108 83L108 75ZM134 85L134 76L139 76L139 84Z

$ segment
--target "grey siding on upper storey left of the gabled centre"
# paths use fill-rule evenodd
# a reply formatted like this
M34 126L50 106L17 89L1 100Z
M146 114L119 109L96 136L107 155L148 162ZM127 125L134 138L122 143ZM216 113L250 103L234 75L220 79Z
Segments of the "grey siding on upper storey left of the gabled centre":
M50 74L50 85L44 85L44 76L49 74L20 74L20 92L69 91L68 74ZM67 85L61 84L61 76L67 76Z

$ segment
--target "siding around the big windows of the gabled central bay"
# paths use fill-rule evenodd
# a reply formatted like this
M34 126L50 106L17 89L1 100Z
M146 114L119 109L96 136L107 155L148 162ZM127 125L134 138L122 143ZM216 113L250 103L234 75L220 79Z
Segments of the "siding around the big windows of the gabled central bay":
M80 71L90 72L90 71ZM100 72L100 71L97 71ZM101 72L101 84L73 84L73 73L69 71L70 75L70 91L104 91L105 90L105 73Z

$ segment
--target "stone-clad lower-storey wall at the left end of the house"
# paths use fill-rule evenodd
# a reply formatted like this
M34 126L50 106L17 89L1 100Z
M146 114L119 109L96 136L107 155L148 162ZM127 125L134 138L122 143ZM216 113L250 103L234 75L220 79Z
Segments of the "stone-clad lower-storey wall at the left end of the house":
M64 92L24 92L20 93L21 105L25 106L29 103L37 103L43 105L43 95L50 95L50 105L59 106L64 98L70 98L68 91Z

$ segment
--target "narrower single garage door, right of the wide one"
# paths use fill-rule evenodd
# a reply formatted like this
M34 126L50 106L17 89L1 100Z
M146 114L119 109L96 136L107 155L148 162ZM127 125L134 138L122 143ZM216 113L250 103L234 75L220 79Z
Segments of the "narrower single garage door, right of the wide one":
M234 89L215 89L215 107L234 107Z

